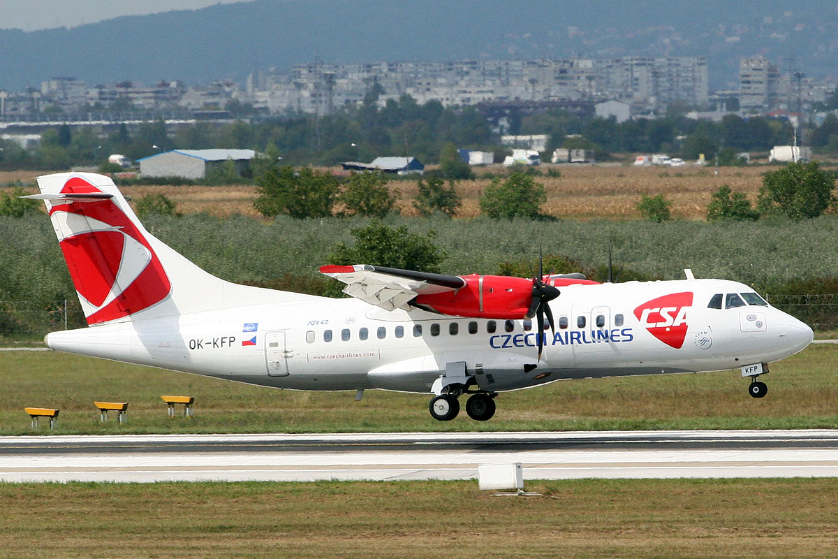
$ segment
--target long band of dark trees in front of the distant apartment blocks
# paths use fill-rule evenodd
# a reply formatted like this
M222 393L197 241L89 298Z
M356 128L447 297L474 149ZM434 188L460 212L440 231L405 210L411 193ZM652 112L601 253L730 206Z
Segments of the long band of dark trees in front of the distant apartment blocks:
M265 152L273 147L287 163L334 165L341 161L368 162L381 155L412 155L422 163L438 163L443 148L487 149L499 156L509 151L476 107L443 107L439 101L416 103L411 96L378 106L375 87L360 106L340 107L328 116L254 116L228 123L196 122L168 130L162 120L143 122L136 132L122 126L106 137L92 127L61 125L43 133L38 148L24 149L0 140L0 169L60 170L74 165L100 165L111 153L132 160L160 151L182 148L244 148ZM508 134L548 134L548 153L554 148L592 148L597 159L609 153L669 153L695 159L720 157L720 164L738 163L742 151L768 151L793 141L784 118L743 119L724 116L722 122L693 120L673 106L654 119L616 122L613 118L577 116L551 109L527 115L511 109ZM838 155L838 119L827 116L820 127L806 127L805 145Z

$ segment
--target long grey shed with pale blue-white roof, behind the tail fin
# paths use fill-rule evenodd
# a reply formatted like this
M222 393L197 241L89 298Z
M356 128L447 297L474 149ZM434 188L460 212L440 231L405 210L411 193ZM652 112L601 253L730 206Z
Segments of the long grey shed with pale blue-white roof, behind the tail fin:
M220 168L229 160L241 173L254 157L256 152L252 149L173 149L137 159L137 163L143 177L204 179L211 169Z

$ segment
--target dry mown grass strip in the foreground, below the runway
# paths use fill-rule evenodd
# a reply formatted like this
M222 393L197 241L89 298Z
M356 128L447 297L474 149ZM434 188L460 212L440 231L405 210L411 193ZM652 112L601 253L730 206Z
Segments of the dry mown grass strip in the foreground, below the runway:
M838 557L834 479L0 484L0 556Z

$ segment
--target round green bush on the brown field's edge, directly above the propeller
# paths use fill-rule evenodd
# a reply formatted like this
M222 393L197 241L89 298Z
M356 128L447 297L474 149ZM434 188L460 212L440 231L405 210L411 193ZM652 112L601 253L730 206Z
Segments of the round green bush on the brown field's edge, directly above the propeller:
M480 197L480 211L494 219L512 220L516 217L541 217L541 204L547 201L543 184L536 183L524 173L512 173L503 182L499 177Z

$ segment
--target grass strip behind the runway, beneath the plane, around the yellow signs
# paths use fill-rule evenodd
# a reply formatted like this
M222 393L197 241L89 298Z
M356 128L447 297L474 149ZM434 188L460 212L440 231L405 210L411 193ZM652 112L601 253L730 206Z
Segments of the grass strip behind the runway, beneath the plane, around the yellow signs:
M771 366L768 396L747 396L738 370L560 381L498 396L489 422L434 421L427 395L298 392L55 352L0 352L0 434L30 431L25 406L59 408L55 434L116 432L390 432L838 427L838 346L813 345ZM167 417L163 394L195 396ZM128 422L101 423L93 401L127 401ZM41 433L44 433L42 427ZM46 430L49 432L49 429Z

